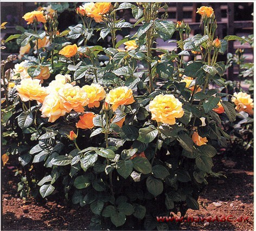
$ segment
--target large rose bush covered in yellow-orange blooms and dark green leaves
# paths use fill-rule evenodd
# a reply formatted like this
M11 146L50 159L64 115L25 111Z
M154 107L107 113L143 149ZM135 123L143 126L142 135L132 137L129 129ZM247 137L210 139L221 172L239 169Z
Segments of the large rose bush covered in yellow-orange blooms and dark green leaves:
M203 35L190 36L183 21L158 18L162 7L86 3L76 9L81 23L62 32L57 12L24 15L29 30L7 41L36 50L14 70L4 69L14 57L1 63L3 144L11 143L4 158L18 155L26 176L22 195L25 182L33 192L40 187L42 197L56 189L90 206L96 230L175 229L156 216L199 209L207 177L221 176L212 171L212 158L229 138L222 120L235 121L235 106L253 111L249 96L231 98L217 88L226 71L218 54L229 40L247 39L215 38L214 10L207 6L197 11ZM123 9L132 10L135 25L117 18ZM136 34L116 41L117 30L136 25ZM111 47L87 45L97 31L98 39L111 37ZM177 49L153 48L156 38L171 41L175 32ZM42 43L46 37L49 43Z

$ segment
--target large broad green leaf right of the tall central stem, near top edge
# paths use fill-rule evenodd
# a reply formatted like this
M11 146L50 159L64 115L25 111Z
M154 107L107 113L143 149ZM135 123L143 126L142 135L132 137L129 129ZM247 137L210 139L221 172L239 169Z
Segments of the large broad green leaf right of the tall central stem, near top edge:
M156 31L163 41L167 41L172 37L175 32L175 24L170 21L161 21L156 19L155 21Z

